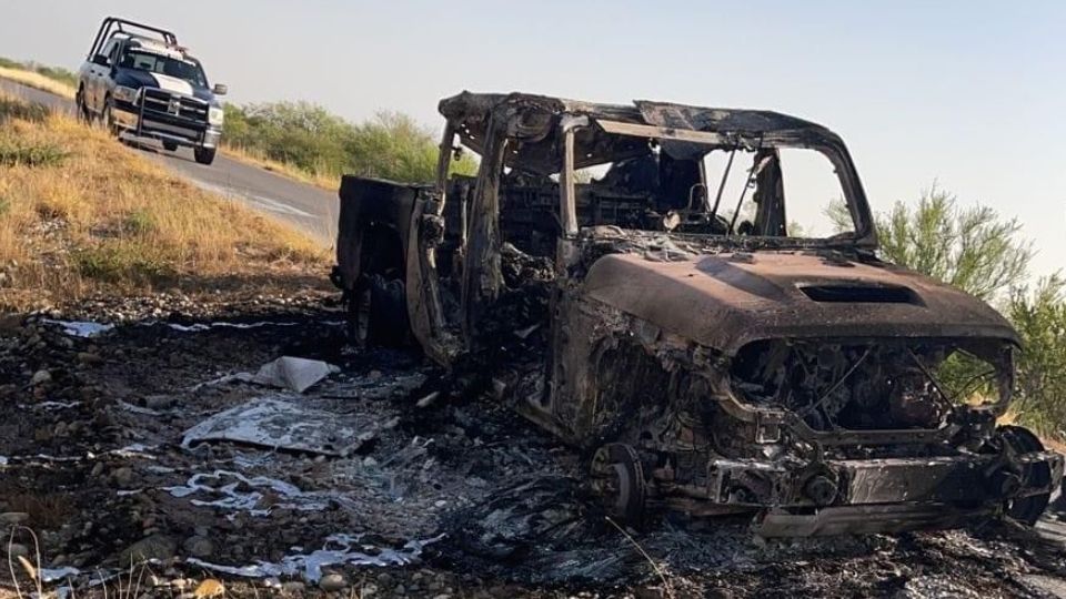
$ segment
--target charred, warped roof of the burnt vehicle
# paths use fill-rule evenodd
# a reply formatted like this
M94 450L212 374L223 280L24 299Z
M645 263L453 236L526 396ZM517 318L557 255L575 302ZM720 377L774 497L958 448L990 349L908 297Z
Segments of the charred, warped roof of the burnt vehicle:
M556 173L562 167L562 155L555 139L559 128L555 125L564 114L714 132L747 140L758 138L765 140L767 145L843 145L839 136L825 126L767 110L704 108L647 100L636 100L632 104L603 104L519 92L469 91L441 100L439 110L456 125L463 143L479 153L483 151L492 116L504 115L507 119L507 135L524 142L509 153L507 164L542 174ZM676 152L684 152L692 146L685 142L673 142L672 145ZM579 132L576 149L576 169L650 151L647 143L641 139L620 140L617 135L596 133L591 129Z

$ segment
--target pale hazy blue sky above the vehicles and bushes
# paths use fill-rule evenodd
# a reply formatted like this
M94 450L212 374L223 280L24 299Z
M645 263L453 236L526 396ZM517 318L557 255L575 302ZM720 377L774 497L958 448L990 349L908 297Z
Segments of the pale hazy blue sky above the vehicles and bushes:
M107 14L165 26L230 101L440 124L463 89L777 110L847 142L875 210L934 180L1066 266L1066 2L2 0L0 55L77 69Z

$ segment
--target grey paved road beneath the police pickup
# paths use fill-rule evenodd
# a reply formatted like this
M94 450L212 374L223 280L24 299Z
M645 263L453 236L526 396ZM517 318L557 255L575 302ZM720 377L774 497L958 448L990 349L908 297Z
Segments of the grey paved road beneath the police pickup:
M8 80L0 79L0 91L53 110L73 112L70 100ZM338 212L335 192L299 183L222 154L214 159L214 164L204 166L193 160L192 150L188 148L168 152L155 142L130 142L130 145L200 187L240 200L296 225L326 245L333 245Z

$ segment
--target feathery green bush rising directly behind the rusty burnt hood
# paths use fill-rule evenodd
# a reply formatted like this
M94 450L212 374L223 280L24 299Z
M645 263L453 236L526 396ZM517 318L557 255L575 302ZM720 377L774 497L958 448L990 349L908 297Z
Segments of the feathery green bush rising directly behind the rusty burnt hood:
M831 204L826 215L837 231L853 226L843 202ZM959 206L935 184L916 205L896 202L874 220L886 261L986 301L1023 284L1033 258L1017 219L1003 219L988 206Z

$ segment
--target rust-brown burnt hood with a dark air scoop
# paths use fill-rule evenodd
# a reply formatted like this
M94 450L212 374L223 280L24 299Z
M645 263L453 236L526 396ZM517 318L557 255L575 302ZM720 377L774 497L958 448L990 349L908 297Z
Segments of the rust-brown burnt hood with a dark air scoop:
M984 302L914 272L818 252L597 260L586 297L733 355L768 338L971 337L1017 344Z

